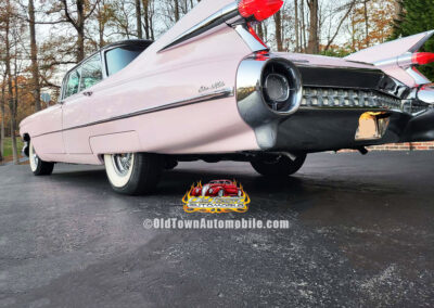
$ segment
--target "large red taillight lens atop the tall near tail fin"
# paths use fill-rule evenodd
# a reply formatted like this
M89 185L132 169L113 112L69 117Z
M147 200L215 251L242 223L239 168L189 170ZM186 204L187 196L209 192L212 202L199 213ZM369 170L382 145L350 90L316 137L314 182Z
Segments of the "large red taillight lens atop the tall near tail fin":
M261 22L279 12L283 3L283 0L241 0L238 10L244 18L254 16Z

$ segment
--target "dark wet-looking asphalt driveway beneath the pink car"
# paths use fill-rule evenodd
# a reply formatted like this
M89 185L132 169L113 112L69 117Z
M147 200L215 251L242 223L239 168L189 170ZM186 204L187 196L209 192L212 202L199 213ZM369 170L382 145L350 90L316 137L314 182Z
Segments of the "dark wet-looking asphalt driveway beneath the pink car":
M247 214L186 214L196 180L235 178ZM154 218L285 219L289 230L145 230ZM0 167L0 307L433 307L434 153L316 154L268 180L189 163L152 196L101 168Z

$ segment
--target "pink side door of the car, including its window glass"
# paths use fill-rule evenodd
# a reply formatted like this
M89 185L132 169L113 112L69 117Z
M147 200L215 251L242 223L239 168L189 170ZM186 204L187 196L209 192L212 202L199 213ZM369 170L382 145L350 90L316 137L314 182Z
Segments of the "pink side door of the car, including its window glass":
M89 144L92 87L102 80L100 53L69 73L63 103L63 140L67 154L91 154Z

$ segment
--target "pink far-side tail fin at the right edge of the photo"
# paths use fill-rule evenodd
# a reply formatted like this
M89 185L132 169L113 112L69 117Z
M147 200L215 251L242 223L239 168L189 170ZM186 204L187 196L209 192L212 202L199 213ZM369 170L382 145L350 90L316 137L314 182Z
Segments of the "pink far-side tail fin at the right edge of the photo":
M371 63L409 87L431 84L414 66L417 52L434 35L434 30L374 46L345 57L347 61ZM416 56L416 57L414 57ZM426 63L424 63L426 64Z

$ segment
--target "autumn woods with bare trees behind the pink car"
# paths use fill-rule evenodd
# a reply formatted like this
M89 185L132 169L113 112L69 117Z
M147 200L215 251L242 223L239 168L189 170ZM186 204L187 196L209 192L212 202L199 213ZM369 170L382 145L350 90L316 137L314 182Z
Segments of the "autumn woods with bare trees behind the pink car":
M214 0L218 1L218 0ZM0 161L17 124L54 103L63 75L105 44L156 40L200 0L2 0L0 3ZM344 56L392 38L434 29L434 0L286 0L256 25L272 50ZM434 49L430 41L427 50ZM425 73L434 76L430 68Z

